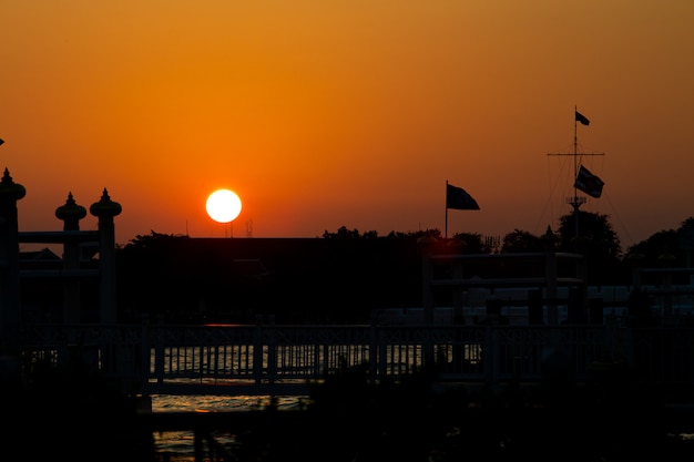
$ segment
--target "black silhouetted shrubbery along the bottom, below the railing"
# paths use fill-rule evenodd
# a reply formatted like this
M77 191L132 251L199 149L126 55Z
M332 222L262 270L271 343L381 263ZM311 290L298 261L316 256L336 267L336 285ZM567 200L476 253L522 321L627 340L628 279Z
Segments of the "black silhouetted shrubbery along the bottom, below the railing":
M694 458L692 390L667 393L629 376L578 387L569 377L501 390L433 387L436 374L371 384L344 370L312 390L306 409L149 413L100 373L37 371L3 380L0 440L28 461L163 462L157 431L193 431L200 461L631 462ZM675 392L676 391L676 392ZM217 435L233 435L218 439ZM215 441L226 441L215 445ZM231 442L229 442L231 441Z

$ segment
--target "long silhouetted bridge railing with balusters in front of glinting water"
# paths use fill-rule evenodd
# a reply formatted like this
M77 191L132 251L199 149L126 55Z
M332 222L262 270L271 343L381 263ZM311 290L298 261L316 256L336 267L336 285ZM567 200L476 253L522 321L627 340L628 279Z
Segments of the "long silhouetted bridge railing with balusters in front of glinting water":
M32 326L24 365L82 361L129 383L316 381L346 369L371 381L422 371L440 381L540 382L626 366L652 383L694 383L694 327ZM29 366L25 366L29 367Z

